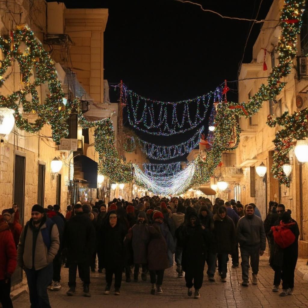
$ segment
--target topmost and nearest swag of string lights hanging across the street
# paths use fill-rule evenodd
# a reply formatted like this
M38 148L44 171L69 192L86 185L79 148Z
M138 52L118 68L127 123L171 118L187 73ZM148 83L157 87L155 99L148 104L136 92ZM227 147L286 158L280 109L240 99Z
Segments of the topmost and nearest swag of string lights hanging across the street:
M121 87L121 100L127 106L129 124L142 132L159 136L171 136L196 128L205 120L209 104L220 97L220 88L217 88L193 99L164 102L139 95L123 83L111 87ZM196 111L192 111L191 106Z

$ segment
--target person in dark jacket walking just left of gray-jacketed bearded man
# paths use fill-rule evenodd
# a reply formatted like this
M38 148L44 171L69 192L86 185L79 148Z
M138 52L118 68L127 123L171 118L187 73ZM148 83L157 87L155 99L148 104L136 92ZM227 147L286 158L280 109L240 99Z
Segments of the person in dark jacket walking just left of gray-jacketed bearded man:
M222 282L226 282L228 254L233 253L236 233L233 220L227 216L224 206L214 215L214 236L218 260L218 272Z

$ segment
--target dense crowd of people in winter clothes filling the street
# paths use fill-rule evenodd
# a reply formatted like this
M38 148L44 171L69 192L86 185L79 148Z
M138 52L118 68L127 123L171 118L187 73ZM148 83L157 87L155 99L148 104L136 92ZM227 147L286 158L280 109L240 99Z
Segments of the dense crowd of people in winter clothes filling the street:
M273 292L291 295L298 257L299 229L291 211L270 202L263 223L256 205L239 201L215 203L208 198L135 198L132 202L113 199L107 205L81 204L44 209L34 205L31 219L22 226L18 207L0 215L0 302L13 307L10 278L17 264L25 271L31 307L50 307L47 290L59 290L61 268L69 268L67 295L76 290L77 269L83 294L91 297L90 271L105 273L104 294L120 295L122 275L130 283L151 282L151 294L163 293L164 271L176 263L179 278L184 277L187 295L200 298L207 263L207 276L215 282L217 271L222 283L227 278L229 255L232 267L239 267L241 254L242 286L258 283L259 258L266 238L270 266L274 270ZM250 266L249 266L250 259ZM98 261L98 262L97 262ZM194 287L194 292L193 292Z

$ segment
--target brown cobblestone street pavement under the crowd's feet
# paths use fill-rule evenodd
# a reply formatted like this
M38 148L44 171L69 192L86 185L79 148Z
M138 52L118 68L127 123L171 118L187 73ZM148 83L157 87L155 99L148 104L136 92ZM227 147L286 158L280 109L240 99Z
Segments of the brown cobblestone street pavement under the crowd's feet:
M187 296L184 278L178 278L175 267L165 271L163 294L153 296L150 294L151 284L146 282L123 282L121 286L121 295L113 295L113 286L110 295L103 295L105 284L105 275L97 272L91 273L90 292L91 298L83 297L82 283L77 278L76 294L68 297L68 269L62 268L61 284L59 291L48 291L52 307L108 307L108 308L142 308L142 307L217 307L217 308L258 308L258 307L308 307L308 283L303 281L298 275L295 275L295 287L293 295L279 297L279 293L272 292L274 272L268 264L267 256L261 257L260 270L258 274L258 285L251 284L249 287L241 286L241 268L231 268L231 260L228 264L227 282L222 283L218 274L215 275L216 282L209 282L205 277L201 298L194 299ZM141 275L140 275L141 276ZM280 286L281 288L281 286ZM14 307L30 307L29 296L24 293L14 300Z

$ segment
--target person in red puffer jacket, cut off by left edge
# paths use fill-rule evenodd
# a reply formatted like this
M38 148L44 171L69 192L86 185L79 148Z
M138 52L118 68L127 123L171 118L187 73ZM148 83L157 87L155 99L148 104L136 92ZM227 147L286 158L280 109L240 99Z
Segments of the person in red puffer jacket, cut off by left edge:
M9 225L0 215L0 302L2 307L13 307L10 298L11 276L17 265L17 251Z

